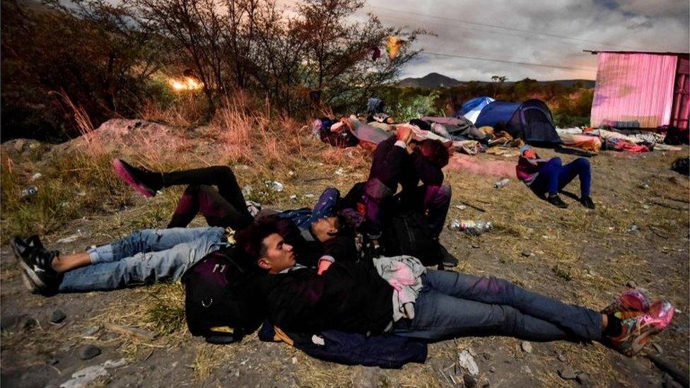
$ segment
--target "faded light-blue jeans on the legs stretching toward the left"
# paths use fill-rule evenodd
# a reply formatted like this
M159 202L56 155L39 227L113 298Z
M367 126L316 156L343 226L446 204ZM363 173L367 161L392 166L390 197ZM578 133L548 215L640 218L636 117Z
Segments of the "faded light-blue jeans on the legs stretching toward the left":
M114 290L176 281L223 242L224 228L145 229L88 250L91 263L64 273L60 292Z

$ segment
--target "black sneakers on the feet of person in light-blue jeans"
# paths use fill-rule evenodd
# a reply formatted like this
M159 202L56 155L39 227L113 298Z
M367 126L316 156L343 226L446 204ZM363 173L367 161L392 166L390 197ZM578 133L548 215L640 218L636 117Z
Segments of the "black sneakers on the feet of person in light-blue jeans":
M37 236L28 240L15 237L11 246L21 265L26 288L32 293L52 293L59 276L50 264L59 252L45 250Z

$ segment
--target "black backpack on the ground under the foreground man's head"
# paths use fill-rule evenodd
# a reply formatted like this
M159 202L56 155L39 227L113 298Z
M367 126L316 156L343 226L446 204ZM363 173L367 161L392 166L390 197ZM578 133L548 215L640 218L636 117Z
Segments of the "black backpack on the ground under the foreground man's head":
M194 336L209 343L242 340L264 320L259 269L236 247L207 254L182 275L185 317Z

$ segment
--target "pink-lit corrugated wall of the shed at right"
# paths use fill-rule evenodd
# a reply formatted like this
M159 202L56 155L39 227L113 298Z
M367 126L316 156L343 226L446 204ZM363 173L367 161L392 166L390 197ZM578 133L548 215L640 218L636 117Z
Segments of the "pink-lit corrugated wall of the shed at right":
M676 55L600 52L597 60L592 127L669 124Z

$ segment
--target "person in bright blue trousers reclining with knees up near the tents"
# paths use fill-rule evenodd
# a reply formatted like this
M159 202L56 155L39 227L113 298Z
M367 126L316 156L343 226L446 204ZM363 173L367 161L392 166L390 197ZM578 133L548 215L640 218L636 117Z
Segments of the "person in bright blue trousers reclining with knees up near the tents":
M546 194L546 201L559 208L568 207L559 192L575 177L580 177L580 203L586 208L595 208L590 196L592 168L590 161L585 158L577 158L563 165L561 158L541 159L534 148L525 145L520 148L515 170L517 179L525 182L537 195Z

